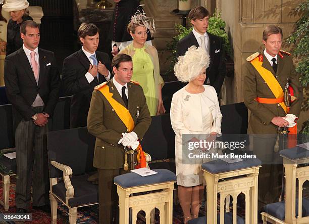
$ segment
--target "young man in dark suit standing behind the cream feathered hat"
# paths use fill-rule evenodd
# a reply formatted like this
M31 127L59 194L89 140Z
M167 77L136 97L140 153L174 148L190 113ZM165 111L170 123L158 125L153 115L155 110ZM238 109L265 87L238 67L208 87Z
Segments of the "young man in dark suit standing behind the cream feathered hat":
M191 9L188 15L193 30L181 40L178 41L176 47L176 56L182 56L186 53L189 47L195 45L200 46L208 52L211 60L210 65L206 70L206 83L210 83L219 96L221 86L226 75L226 68L223 62L223 45L219 36L215 36L207 32L209 12L202 6L197 6Z

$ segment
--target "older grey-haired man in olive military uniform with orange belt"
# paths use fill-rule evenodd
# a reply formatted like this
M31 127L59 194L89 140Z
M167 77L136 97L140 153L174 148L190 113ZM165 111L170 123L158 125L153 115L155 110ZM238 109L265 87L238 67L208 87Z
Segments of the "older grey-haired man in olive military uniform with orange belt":
M274 152L279 127L292 128L299 116L302 87L289 53L281 51L282 29L267 26L263 32L265 50L247 58L247 74L243 83L244 103L250 110L248 133L253 134L253 152L262 159L259 174L259 209L279 200L282 165ZM288 108L284 103L287 83L293 88L294 101ZM296 126L294 126L296 128ZM269 159L265 161L264 159ZM281 177L281 178L280 178Z

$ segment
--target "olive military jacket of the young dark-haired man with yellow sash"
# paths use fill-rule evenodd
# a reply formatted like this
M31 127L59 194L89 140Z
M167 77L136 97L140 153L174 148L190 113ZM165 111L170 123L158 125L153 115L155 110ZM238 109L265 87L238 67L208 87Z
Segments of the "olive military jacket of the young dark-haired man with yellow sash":
M113 80L109 81L107 85L110 88L110 93L113 93L113 99L125 107ZM128 99L128 110L135 124L133 131L139 139L142 139L151 123L142 87L129 82ZM88 114L88 131L96 137L93 166L99 169L122 168L124 148L118 144L118 141L122 138L121 133L127 132L127 127L99 90L94 90L92 93Z

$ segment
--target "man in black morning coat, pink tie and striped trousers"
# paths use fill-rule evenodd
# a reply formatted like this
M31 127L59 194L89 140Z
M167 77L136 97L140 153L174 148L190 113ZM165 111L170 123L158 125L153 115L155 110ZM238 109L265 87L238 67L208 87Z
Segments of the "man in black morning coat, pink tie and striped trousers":
M25 21L20 33L23 47L6 57L4 78L16 128L16 207L26 213L31 183L33 208L49 204L46 133L59 97L60 75L54 53L37 47L37 24Z

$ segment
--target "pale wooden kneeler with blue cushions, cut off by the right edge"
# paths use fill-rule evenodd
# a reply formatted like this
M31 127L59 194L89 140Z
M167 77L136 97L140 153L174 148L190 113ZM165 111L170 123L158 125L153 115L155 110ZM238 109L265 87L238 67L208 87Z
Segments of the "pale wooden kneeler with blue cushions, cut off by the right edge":
M280 151L285 168L285 201L268 204L262 212L263 223L309 223L309 198L302 197L302 186L309 181L309 150L301 147ZM299 166L303 164L304 166ZM298 180L298 197L296 197Z

